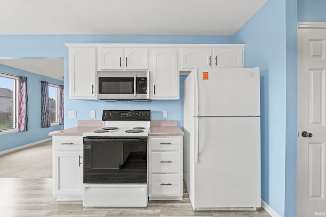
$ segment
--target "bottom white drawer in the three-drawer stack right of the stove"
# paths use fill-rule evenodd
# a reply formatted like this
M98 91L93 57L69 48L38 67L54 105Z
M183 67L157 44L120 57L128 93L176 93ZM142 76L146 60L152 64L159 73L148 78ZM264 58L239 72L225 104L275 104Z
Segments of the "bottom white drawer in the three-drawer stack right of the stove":
M150 195L182 196L180 174L152 174Z

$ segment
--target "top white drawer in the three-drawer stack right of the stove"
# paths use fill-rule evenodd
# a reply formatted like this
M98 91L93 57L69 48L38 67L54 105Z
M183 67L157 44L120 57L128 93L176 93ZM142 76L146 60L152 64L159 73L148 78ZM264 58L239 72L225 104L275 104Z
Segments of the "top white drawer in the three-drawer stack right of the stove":
M151 137L150 148L151 150L180 150L181 139L180 137Z

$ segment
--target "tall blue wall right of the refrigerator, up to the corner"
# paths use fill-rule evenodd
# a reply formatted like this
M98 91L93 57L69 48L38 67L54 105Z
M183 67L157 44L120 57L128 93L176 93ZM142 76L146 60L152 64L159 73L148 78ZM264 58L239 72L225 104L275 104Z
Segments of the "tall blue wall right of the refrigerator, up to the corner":
M285 204L286 22L285 1L269 0L235 34L246 44L244 67L261 76L261 197L281 216Z

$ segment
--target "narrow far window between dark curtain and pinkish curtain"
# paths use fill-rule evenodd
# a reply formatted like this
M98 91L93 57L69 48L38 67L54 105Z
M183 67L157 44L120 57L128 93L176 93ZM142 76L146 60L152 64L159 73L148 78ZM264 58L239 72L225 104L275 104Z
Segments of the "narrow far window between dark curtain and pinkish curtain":
M60 109L60 95L58 85L49 84L49 107L51 125L58 125Z

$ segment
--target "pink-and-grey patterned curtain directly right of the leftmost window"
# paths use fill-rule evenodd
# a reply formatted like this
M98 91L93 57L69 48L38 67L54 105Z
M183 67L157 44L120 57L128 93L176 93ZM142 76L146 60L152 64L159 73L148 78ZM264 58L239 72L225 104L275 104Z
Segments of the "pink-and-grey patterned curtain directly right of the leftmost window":
M28 131L28 94L27 77L18 79L18 132Z

